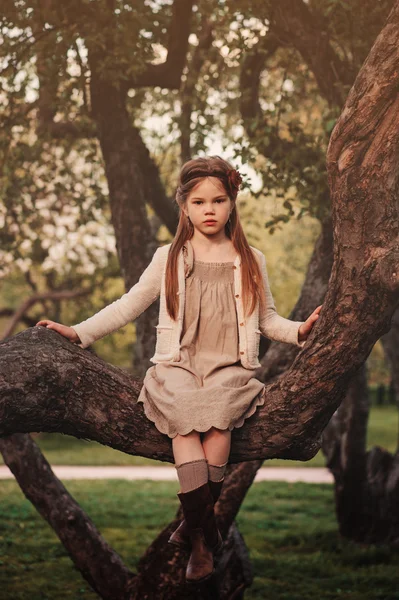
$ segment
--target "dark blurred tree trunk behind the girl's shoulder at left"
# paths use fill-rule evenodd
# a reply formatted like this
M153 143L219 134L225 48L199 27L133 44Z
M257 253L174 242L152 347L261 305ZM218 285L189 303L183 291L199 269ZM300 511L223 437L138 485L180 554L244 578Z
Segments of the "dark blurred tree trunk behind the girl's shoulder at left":
M143 194L147 174L136 156L131 117L126 109L127 89L101 78L101 61L90 51L89 63L93 116L104 156L118 257L128 291L149 264L157 245ZM133 371L139 377L151 366L148 359L155 345L157 308L155 303L136 320Z

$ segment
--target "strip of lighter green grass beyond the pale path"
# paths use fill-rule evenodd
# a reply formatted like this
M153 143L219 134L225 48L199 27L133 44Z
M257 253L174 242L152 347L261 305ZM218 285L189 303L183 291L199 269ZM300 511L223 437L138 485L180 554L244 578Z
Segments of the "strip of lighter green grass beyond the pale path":
M398 437L398 411L394 406L373 406L370 411L367 445L380 445L393 452ZM158 465L170 466L170 463L141 456L130 456L119 450L108 448L97 442L78 440L61 433L45 433L35 438L45 457L52 465ZM0 464L3 459L0 455ZM324 467L325 458L321 451L311 460L272 459L264 463L265 467Z

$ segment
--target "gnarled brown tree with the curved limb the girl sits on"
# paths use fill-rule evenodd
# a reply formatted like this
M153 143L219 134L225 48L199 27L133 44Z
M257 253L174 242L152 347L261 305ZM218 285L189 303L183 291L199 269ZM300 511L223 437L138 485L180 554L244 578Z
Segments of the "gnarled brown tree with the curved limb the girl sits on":
M178 3L175 6L178 6ZM235 589L237 587L240 589L240 586L242 589L248 585L248 578L242 569L245 560L243 544L236 530L230 526L257 468L265 458L307 460L317 452L321 434L339 407L349 382L362 368L375 341L382 333L388 331L390 319L398 303L397 279L393 275L396 273L395 264L398 258L397 212L392 194L392 190L397 186L397 169L395 169L397 107L394 101L397 86L395 73L397 45L393 44L391 49L385 42L385 40L394 40L395 36L397 38L397 32L398 6L395 5L356 78L331 138L327 160L330 169L333 223L334 262L331 277L328 281L331 253L323 252L325 248L329 248L331 242L331 229L326 219L321 239L308 270L301 299L295 309L297 313L301 311L303 313L295 315L294 318L303 318L309 314L311 308L307 302L318 304L322 299L322 297L316 298L315 294L310 295L312 288L309 282L311 281L317 283L315 289L321 296L328 282L322 316L306 347L298 356L294 357L293 348L290 349L291 354L286 353L286 348L281 348L281 345L275 350L274 345L271 347L269 352L273 351L273 354L270 356L274 357L273 364L269 368L271 376L287 368L292 358L294 361L281 377L274 378L268 384L266 390L268 403L261 407L256 419L249 419L242 429L234 433L230 457L232 464L226 477L224 492L217 505L222 532L225 534L227 531L230 532L227 544L234 547L229 563L227 562L229 554L225 554L229 568L226 567L226 563L223 564L225 577L221 585L224 597L229 597L229 589L234 589L234 586ZM112 44L112 39L109 43ZM109 46L107 48L110 50ZM113 55L113 52L109 52L109 55ZM98 65L95 54L93 61L93 72L95 72ZM368 81L378 83L372 90L372 103L369 102L370 91L367 92ZM97 85L104 85L104 75L99 77ZM120 94L115 91L114 86L104 91L114 94L111 98L115 102L114 108L120 106L117 104L121 99ZM100 115L98 119L104 119L105 108L100 106L98 110ZM122 132L121 135L125 135L126 131L129 135L131 129L129 127L127 130L124 129L124 123L127 127L128 121L123 106L120 110L122 117L118 115L120 120L119 124L117 123L121 128L119 131ZM104 147L104 144L110 141L107 132L112 138L112 131L109 131L103 121L100 122L100 126L103 127ZM360 138L352 147L352 139L356 138L357 132L360 132ZM389 145L382 143L381 132L388 135ZM279 143L278 138L274 137L273 140ZM137 147L140 147L137 138L136 142ZM348 144L350 153L345 144ZM112 144L108 150L103 149L104 156L107 151L108 162L112 163ZM378 160L382 165L377 175L384 175L376 176L375 179L372 179L376 175L372 171L373 164L367 162L376 156L372 154L373 152L378 153ZM338 168L338 165L339 167L344 165L343 170ZM384 168L388 169L388 175L383 173ZM116 176L118 172L110 168L107 174L112 179L113 174L115 173ZM129 174L128 170L126 172ZM145 185L145 182L141 183ZM129 190L130 187L127 186L126 189ZM122 201L124 196L120 198ZM362 210L362 206L359 205L360 200L363 201L363 206L367 206L367 211ZM118 214L122 213L118 212ZM370 215L374 215L374 218ZM378 216L377 219L375 215ZM387 215L393 218L389 219ZM356 223L355 231L353 227L348 229L348 222ZM357 232L361 232L363 236L361 239L354 239L353 234ZM122 260L121 264L123 264ZM351 296L347 295L347 290L351 291ZM364 327L365 323L368 325L367 329ZM360 328L359 325L362 327ZM33 344L35 353L32 352ZM58 363L54 360L51 364L46 361L49 347L52 349L52 357L58 357ZM270 364L269 352L267 364ZM15 369L14 362L13 369L9 370L10 360L15 359L15 356L18 356L17 364L20 369ZM8 373L4 376L1 391L3 418L0 431L1 435L9 437L1 441L2 451L4 456L8 457L11 468L14 468L22 489L28 488L28 480L27 473L22 469L22 460L18 460L17 442L18 440L24 442L21 444L21 452L26 452L28 449L25 458L33 456L32 448L25 443L25 436L21 435L32 430L61 430L77 437L96 439L131 454L173 460L170 444L140 413L140 406L132 404L132 390L138 393L140 381L133 380L115 367L105 365L89 352L71 347L65 340L60 339L60 336L50 331L27 330L4 341L0 360L3 363L1 372ZM312 366L312 370L309 369L309 365ZM85 372L84 378L81 377L82 369ZM40 389L38 389L38 381L40 381ZM115 394L115 382L120 390L119 395ZM96 393L96 390L101 390L101 393ZM109 400L111 393L112 404ZM32 398L36 400L33 408ZM82 418L83 398L85 419ZM44 406L40 403L43 400ZM51 409L49 409L49 400L52 401ZM88 410L94 415L89 424L87 423ZM113 415L111 418L110 412ZM19 437L14 438L14 435ZM242 464L236 466L237 463ZM40 459L37 460L36 469L43 470ZM47 472L48 469L49 467ZM36 474L39 473L40 471L36 471ZM54 480L52 481L54 483ZM29 497L39 507L38 489L34 489L31 482L29 485L31 486ZM57 491L57 486L53 485L53 489L55 498L59 498L59 488ZM232 494L233 489L235 494ZM46 518L50 518L49 508L49 505L42 504L41 514L47 515ZM84 523L86 519L87 517L80 515L79 522ZM181 557L173 554L165 543L171 527L172 525L160 534L143 557L139 577L132 577L119 563L120 586L124 590L121 593L132 593L136 597L151 597L153 586L162 578L163 589L167 590L168 597L184 597L186 593L184 586L178 585L182 581ZM103 541L98 540L92 527L90 530L93 545L105 548ZM391 530L395 531L395 528ZM60 537L62 534L63 532L60 531ZM154 578L153 561L159 557L160 549L165 564L161 569L158 565L159 579L157 580ZM94 589L104 597L109 597L107 582L99 576L96 558L93 559L91 553L82 558L76 552L74 544L68 547L68 551ZM101 561L108 560L107 556L110 562L115 560L108 548L105 548L101 553ZM166 563L168 563L167 567ZM232 565L237 564L241 565L241 568L233 570ZM167 569L166 577L164 569ZM232 574L235 574L235 580Z

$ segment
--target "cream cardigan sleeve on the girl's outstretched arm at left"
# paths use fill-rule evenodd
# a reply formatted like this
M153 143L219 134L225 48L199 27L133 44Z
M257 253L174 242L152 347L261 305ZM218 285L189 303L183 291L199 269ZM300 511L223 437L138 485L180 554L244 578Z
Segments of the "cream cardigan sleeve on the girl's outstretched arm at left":
M155 302L161 292L161 248L155 251L138 282L126 294L85 321L71 325L80 338L81 348L134 321Z

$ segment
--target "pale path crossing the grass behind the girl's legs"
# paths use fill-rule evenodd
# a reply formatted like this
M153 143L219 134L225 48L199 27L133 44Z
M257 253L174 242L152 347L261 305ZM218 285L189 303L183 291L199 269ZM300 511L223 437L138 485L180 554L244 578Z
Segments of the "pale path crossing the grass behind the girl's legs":
M61 479L152 479L154 481L178 481L175 467L82 467L53 465L56 476ZM5 465L0 465L0 479L13 478ZM258 481L304 481L307 483L333 483L328 469L318 467L262 467Z

